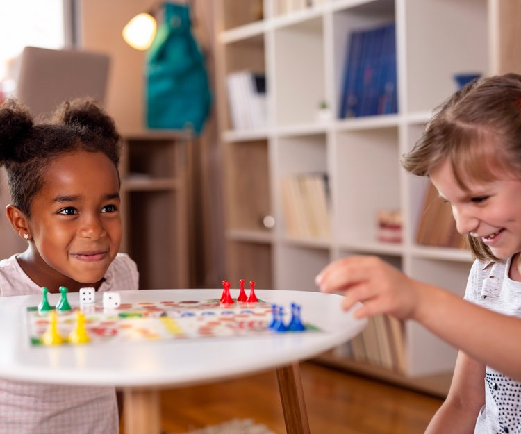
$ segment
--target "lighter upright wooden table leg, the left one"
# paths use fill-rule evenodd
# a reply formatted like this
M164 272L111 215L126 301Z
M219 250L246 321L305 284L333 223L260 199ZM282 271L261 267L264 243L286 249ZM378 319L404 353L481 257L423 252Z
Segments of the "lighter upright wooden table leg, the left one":
M125 434L160 434L161 408L158 390L125 389L123 405Z

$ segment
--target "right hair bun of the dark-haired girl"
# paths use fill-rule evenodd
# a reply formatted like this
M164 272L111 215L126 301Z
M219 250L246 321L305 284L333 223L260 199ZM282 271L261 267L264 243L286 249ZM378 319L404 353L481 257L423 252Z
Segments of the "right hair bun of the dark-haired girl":
M51 123L86 128L109 142L119 141L113 119L92 98L78 98L61 104L53 113Z

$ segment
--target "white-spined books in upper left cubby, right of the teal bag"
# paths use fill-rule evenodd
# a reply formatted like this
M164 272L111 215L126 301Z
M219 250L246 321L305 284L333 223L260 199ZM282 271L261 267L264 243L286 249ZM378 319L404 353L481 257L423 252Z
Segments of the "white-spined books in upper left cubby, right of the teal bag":
M264 73L232 72L226 76L231 123L236 130L266 128L266 78Z

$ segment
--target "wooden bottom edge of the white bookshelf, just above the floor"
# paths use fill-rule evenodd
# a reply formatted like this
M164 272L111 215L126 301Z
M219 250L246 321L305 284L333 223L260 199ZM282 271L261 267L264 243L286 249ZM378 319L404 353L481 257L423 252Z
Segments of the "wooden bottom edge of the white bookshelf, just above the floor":
M452 372L443 372L431 376L408 377L405 374L393 372L383 367L367 365L366 363L333 356L332 351L326 351L326 353L322 353L320 356L313 358L312 361L320 365L343 369L352 374L363 375L368 378L377 379L392 385L414 390L415 392L422 392L443 399L447 397L452 381Z

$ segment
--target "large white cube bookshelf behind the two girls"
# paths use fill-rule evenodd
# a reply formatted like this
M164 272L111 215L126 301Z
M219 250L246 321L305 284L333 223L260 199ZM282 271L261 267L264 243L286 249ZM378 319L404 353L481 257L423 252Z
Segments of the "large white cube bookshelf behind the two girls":
M251 8L243 5L240 12L233 0L219 2L215 59L229 281L254 279L258 287L315 291L314 276L331 260L371 254L463 295L470 254L415 243L427 183L406 174L399 158L413 147L431 110L456 90L454 74L500 72L497 20L505 14L498 12L504 6L499 1L325 0L276 15L279 0L264 0L263 19L248 12L258 1L244 1ZM398 113L338 119L349 32L391 21ZM231 128L224 82L226 74L241 69L266 74L264 131ZM317 120L322 100L333 110L330 121ZM281 179L316 171L329 176L332 235L288 237ZM377 242L376 214L383 208L401 210L402 243ZM274 228L263 227L265 215L274 217ZM404 337L406 372L390 372L388 378L420 384L422 378L452 372L456 350L412 322L404 324ZM328 360L365 369L338 357ZM376 368L368 369L373 375ZM385 369L377 372L386 376ZM424 388L443 394L446 385Z

